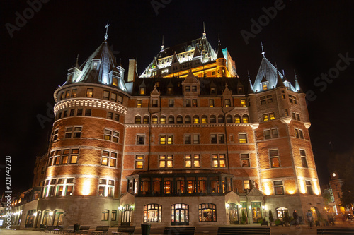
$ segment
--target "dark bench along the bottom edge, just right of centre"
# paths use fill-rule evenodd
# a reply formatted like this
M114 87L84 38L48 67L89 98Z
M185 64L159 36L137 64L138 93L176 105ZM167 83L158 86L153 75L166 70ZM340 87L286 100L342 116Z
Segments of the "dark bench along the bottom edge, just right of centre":
M268 234L270 227L219 227L217 235Z

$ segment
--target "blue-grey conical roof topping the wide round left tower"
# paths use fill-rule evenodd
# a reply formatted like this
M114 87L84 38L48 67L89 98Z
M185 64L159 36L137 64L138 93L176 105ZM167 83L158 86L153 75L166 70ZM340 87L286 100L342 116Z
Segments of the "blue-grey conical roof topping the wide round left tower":
M118 65L115 61L107 42L103 42L91 56L81 65L81 73L73 83L97 83L113 86L113 71L120 74ZM126 91L123 75L120 74L118 88ZM114 86L113 86L114 87Z

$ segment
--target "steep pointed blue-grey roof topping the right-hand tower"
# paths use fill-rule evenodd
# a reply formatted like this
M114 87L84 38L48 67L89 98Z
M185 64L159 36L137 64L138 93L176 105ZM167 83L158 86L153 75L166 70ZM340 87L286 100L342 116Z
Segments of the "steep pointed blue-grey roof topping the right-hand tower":
M275 88L278 83L278 76L282 78L282 74L273 66L273 64L268 61L267 58L264 56L261 61L261 66L259 66L258 73L256 76L256 80L254 81L253 90L254 92L261 92L262 85L261 83L268 81L269 86L268 89Z

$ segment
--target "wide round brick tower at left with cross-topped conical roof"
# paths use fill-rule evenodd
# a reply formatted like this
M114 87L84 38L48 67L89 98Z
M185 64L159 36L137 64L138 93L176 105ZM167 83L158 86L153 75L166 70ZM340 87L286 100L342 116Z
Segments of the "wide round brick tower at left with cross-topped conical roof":
M129 97L123 73L104 41L82 66L76 62L66 83L55 90L38 224L118 224Z

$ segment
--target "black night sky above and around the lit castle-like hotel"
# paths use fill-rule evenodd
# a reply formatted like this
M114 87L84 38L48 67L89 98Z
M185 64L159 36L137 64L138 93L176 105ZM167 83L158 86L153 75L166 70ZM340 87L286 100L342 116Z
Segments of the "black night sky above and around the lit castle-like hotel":
M354 1L42 1L1 1L0 164L11 156L13 191L30 188L35 156L47 150L52 94L76 55L81 64L103 42L107 20L108 43L126 72L128 59L136 58L142 73L162 35L165 47L193 40L205 21L210 43L217 47L219 35L241 79L249 70L254 81L263 42L270 62L292 82L295 70L302 89L316 97L308 102L309 131L321 184L328 181L329 141L338 152L354 143ZM252 27L259 20L260 28ZM241 30L253 32L248 43ZM324 82L322 73L333 80ZM41 126L38 115L50 121Z

